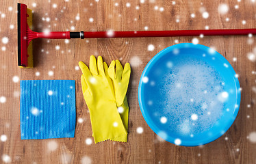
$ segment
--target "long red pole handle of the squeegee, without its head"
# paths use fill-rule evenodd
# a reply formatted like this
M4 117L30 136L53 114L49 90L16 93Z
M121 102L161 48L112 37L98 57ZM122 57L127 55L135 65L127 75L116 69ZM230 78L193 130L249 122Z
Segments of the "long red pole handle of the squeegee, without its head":
M81 31L81 32L49 32L38 33L38 38L70 39L70 38L144 38L171 36L234 36L256 34L256 29L196 29L173 31Z

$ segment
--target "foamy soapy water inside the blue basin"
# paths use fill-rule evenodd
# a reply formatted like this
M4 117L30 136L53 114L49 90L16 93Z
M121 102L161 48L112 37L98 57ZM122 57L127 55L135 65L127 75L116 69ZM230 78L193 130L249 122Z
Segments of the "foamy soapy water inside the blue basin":
M170 131L193 137L216 124L228 94L218 72L205 61L188 57L176 62L167 65L168 72L157 85L162 98L154 106L163 110L155 111L155 117L168 118L165 125Z

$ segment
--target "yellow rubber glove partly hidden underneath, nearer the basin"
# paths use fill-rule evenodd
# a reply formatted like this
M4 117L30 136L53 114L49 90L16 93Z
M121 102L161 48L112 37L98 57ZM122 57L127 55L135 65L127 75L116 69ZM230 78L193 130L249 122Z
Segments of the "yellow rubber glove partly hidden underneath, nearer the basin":
M123 120L125 129L128 131L129 106L126 93L129 85L131 66L129 63L127 63L125 64L125 67L123 69L120 61L116 60L111 62L107 72L110 75L110 78L112 79L114 84L114 92L116 96L116 105L118 107L118 112L120 113L120 116ZM125 137L122 137L121 139L118 139L126 142L127 135Z

